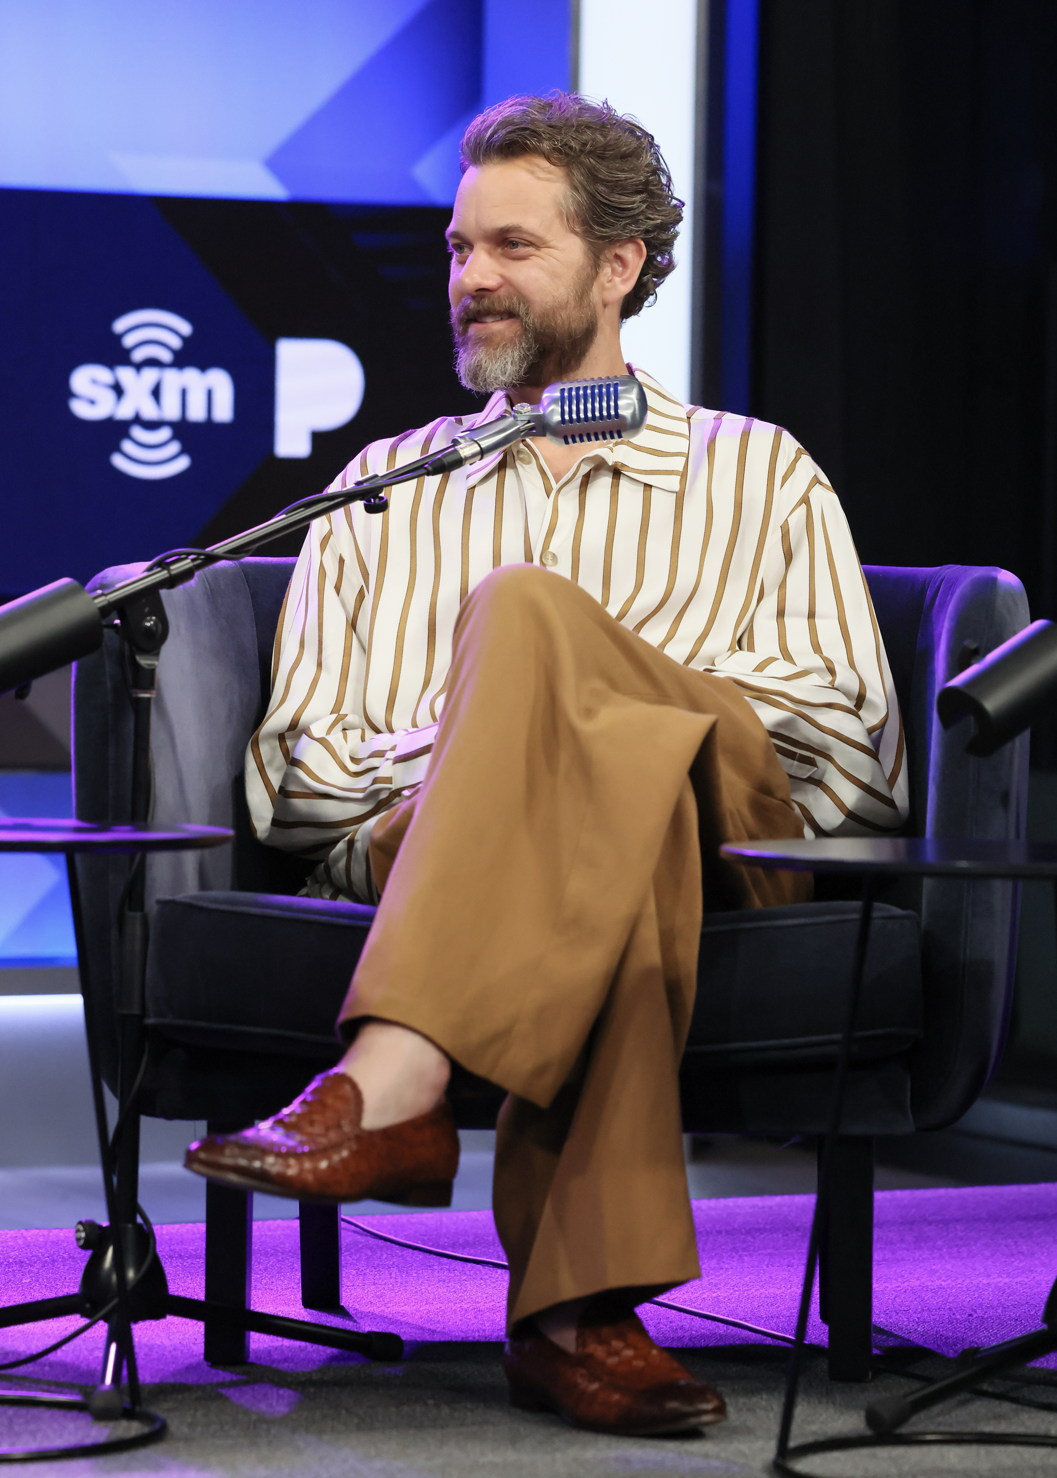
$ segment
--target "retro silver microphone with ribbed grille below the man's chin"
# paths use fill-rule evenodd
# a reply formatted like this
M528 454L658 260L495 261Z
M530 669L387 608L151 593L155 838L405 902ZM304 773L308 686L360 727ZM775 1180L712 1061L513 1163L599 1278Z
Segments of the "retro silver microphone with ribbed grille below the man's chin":
M616 442L623 436L635 436L645 420L645 390L632 374L558 380L546 387L539 405L515 405L511 415L500 415L472 432L462 432L450 446L430 460L425 473L434 476L469 467L526 436L546 436L565 446Z

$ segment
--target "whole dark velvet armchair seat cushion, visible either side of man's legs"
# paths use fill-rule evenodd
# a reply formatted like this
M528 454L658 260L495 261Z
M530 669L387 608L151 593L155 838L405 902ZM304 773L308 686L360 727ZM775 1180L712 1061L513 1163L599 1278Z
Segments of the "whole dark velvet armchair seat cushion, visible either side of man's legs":
M261 893L159 899L151 925L148 1024L211 1048L316 1057L375 910ZM684 1072L833 1061L844 1021L858 903L710 913ZM856 1060L905 1052L921 1033L915 913L874 906Z

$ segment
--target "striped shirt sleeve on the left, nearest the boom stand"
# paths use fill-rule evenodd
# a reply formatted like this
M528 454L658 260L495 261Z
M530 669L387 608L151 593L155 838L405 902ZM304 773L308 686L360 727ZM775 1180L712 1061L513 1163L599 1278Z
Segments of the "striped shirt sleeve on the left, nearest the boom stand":
M371 826L415 791L437 726L376 733L359 712L368 571L353 522L317 519L279 616L272 699L247 749L247 801L258 841L320 863L323 891L376 902Z

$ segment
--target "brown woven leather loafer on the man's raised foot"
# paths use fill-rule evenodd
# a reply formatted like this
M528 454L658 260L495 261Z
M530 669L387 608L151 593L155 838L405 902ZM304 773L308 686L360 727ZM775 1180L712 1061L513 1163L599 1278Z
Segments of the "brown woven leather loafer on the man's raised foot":
M294 1200L452 1205L459 1137L446 1098L385 1129L362 1129L362 1117L360 1089L334 1067L252 1129L196 1140L183 1163L221 1185Z

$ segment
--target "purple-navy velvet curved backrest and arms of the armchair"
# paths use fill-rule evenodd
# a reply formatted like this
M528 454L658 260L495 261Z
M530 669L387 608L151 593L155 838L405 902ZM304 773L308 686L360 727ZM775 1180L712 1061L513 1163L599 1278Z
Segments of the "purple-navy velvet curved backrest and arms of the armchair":
M142 566L105 571L109 585ZM295 893L309 863L261 847L242 789L249 735L270 693L272 646L292 559L214 565L165 591L170 638L158 667L154 816L159 823L233 826L230 847L165 853L148 862L148 902L182 893L238 888ZM1019 581L999 569L867 568L867 581L899 695L911 782L908 829L930 837L1023 835L1027 743L991 760L964 754L965 726L946 733L936 692L958 670L964 641L989 652L1027 622ZM100 652L77 664L74 779L77 814L128 816L131 709L121 641L106 631ZM112 1001L114 928L127 863L83 859L87 955L93 992ZM1001 1051L1013 983L1017 894L1010 884L927 884L909 902L921 913L926 1035L914 1066L914 1113L923 1126L958 1117L986 1082ZM103 1012L112 1020L109 1011ZM105 1049L112 1077L114 1054Z

